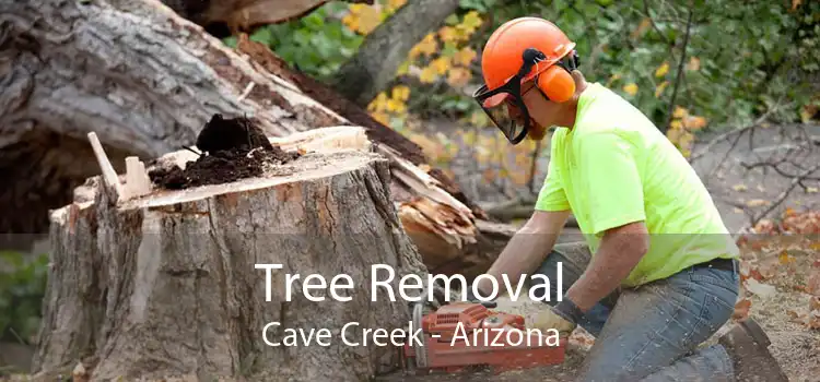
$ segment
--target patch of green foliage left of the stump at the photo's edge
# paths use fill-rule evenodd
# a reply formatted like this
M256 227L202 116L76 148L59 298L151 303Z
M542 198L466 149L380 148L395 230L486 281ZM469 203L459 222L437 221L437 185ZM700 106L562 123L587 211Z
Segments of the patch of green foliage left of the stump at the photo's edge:
M27 342L37 334L47 270L46 254L0 252L0 339Z

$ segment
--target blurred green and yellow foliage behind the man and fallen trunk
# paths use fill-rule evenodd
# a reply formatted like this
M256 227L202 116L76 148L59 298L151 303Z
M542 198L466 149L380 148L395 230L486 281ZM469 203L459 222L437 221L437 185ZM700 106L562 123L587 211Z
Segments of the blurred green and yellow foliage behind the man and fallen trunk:
M332 84L365 38L407 4L329 2L298 20L261 27L251 39ZM457 167L492 184L483 191L473 187L479 193L473 198L492 199L487 193L493 190L520 194L526 184L525 192L534 191L532 178L542 172L531 158L548 151L528 141L504 146L470 97L481 83L483 43L495 27L524 15L561 27L577 43L587 80L624 96L684 155L699 132L763 115L775 122L817 118L817 1L461 0L415 43L395 77L375 89L367 109L422 145L450 176L465 181L454 174Z

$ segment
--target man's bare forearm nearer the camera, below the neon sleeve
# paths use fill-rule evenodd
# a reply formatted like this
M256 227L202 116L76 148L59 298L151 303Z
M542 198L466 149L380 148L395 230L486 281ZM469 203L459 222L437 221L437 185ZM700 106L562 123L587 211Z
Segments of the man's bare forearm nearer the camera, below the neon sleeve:
M648 236L636 227L607 235L584 274L566 291L566 297L582 311L618 288L648 249Z

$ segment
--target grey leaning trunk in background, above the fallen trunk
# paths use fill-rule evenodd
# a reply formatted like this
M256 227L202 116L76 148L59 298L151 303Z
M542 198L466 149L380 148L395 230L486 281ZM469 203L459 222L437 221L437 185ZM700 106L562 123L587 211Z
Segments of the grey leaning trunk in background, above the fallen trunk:
M458 0L409 0L365 37L336 73L333 88L366 106L396 76L407 55L458 9Z

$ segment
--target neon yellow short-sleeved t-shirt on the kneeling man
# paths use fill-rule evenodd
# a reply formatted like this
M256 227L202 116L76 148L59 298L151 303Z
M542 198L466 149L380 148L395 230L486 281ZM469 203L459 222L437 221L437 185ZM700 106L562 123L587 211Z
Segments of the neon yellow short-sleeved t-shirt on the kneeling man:
M677 147L640 110L591 83L575 126L551 140L536 210L571 210L595 255L604 232L643 220L649 250L624 286L671 276L716 258L738 256L706 188Z

